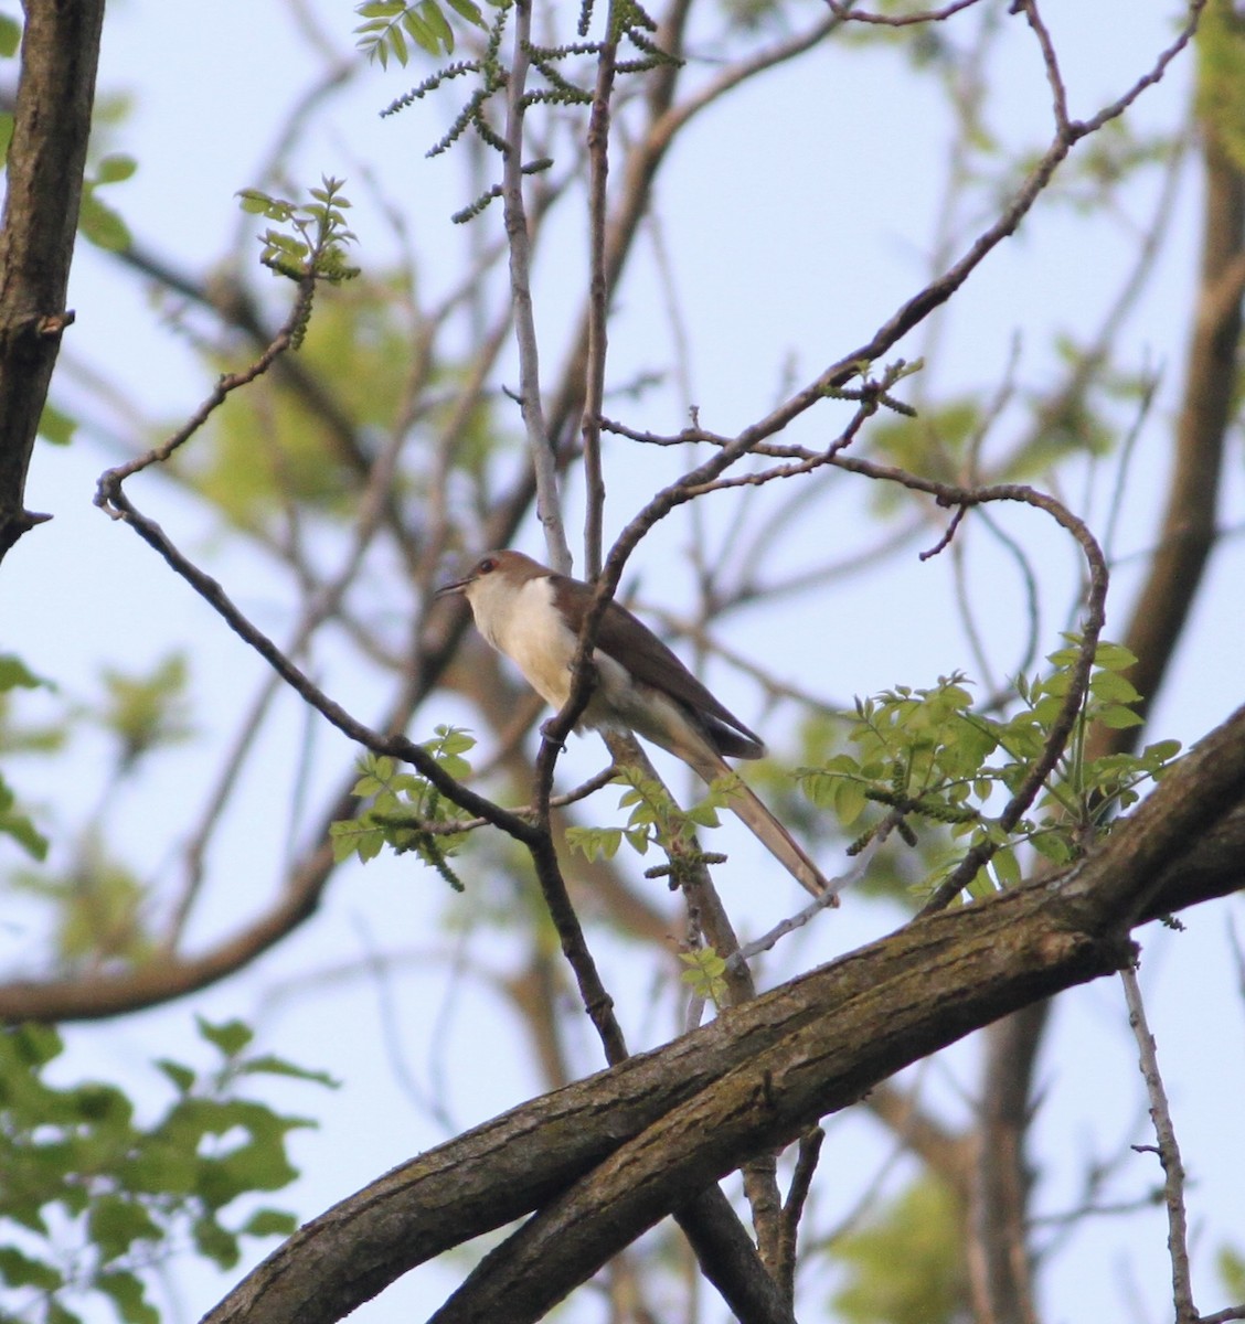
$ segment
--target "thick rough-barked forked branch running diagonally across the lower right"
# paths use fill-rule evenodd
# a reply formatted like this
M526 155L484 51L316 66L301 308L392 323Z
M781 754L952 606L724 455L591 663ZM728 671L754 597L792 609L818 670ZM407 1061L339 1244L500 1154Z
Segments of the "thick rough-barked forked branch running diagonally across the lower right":
M689 1190L971 1030L1118 969L1134 924L1241 886L1242 806L1245 710L1064 878L917 920L412 1160L303 1227L208 1319L336 1320L539 1209L441 1316L536 1319Z

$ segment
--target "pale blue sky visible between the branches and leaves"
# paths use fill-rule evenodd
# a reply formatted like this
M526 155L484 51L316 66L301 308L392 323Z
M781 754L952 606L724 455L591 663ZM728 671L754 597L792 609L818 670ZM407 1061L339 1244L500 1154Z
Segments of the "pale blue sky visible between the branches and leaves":
M350 49L355 19L348 4L307 3L339 48ZM1147 68L1170 37L1175 7L1139 9L1131 0L1083 4L1065 0L1044 7L1061 50L1074 114L1090 114L1118 95ZM136 237L179 266L201 270L220 254L223 237L244 224L234 193L257 181L269 159L277 126L307 85L315 57L299 36L286 5L217 0L204 11L114 0L105 32L101 93L127 93L131 114L110 131L110 146L134 155L139 171L110 191L109 200ZM1019 28L1019 23L1016 24ZM959 29L964 32L967 29ZM1189 93L1191 62L1146 94L1136 127L1175 122ZM1046 132L1041 113L1046 91L1032 41L1024 32L1001 38L992 124L1011 143L1037 146ZM299 152L303 181L321 173L350 181L358 204L356 258L379 269L393 256L393 242L375 196L400 209L412 242L426 254L425 279L454 277L464 238L449 225L462 205L461 175L444 158L424 159L444 130L445 99L430 98L412 113L381 120L377 110L424 75L426 69L374 70L352 81L321 107ZM864 343L894 307L926 278L930 217L939 191L948 119L931 86L913 79L898 57L856 52L804 61L756 81L703 117L687 134L658 189L662 237L686 319L691 363L691 399L705 425L730 433L766 412L779 399L787 373L816 375L826 363ZM362 163L380 163L375 187ZM1148 192L1147 192L1148 187ZM1128 226L1143 224L1155 205L1155 188L1126 196L1123 220L1085 216L1057 204L1041 205L1032 222L997 250L954 301L942 327L943 352L931 393L975 391L997 383L1022 328L1021 371L1029 383L1053 379L1052 332L1078 335L1098 324L1130 261ZM1196 261L1199 179L1187 167L1168 226L1158 275L1119 339L1126 364L1163 371L1152 425L1139 438L1127 487L1118 545L1113 609L1107 636L1127 618L1130 585L1142 568L1136 553L1163 499L1166 425L1179 400L1183 327L1187 323ZM966 218L967 224L968 218ZM489 220L499 224L499 216ZM577 308L583 271L583 234L563 220L566 236L546 246L536 271L536 319L547 373L560 363L566 335ZM966 232L967 233L967 232ZM547 254L554 253L551 258ZM660 314L661 281L644 261L620 301L612 331L611 373L626 380L669 355ZM147 784L130 792L115 814L115 846L156 876L179 838L154 831L152 824L187 821L187 801L204 794L201 768L230 730L237 696L262 679L262 666L225 632L211 612L175 580L151 552L91 506L101 469L115 462L113 441L132 441L135 420L176 425L204 396L209 383L197 357L152 308L147 293L115 260L89 246L75 258L69 303L78 320L66 338L57 389L73 400L83 369L113 383L119 406L107 429L79 434L72 448L41 446L32 466L28 506L56 515L25 539L0 580L0 646L15 649L64 690L85 695L95 686L101 663L124 670L150 667L171 646L191 649L196 722L208 755L187 749L162 764L160 790ZM922 334L899 352L914 357ZM513 367L505 373L517 380ZM81 396L79 396L81 397ZM685 401L666 391L650 405L646 426L675 432ZM791 440L815 445L842 421L833 409L801 422ZM517 420L515 420L517 422ZM111 438L107 433L111 433ZM656 481L677 474L677 457L658 454L636 465L611 458L608 532L616 532L652 491ZM1241 526L1245 493L1240 448L1228 482L1222 524ZM1091 493L1101 518L1111 494L1111 474L1077 475ZM833 561L868 539L873 494L841 475L826 479L824 502L807 520L783 531L785 564ZM1073 494L1079 504L1083 493ZM144 500L146 498L146 500ZM283 583L266 575L253 557L220 547L212 526L184 496L148 481L136 496L188 549L213 557L213 573L234 593L261 628L281 636L291 624L293 604ZM575 528L577 493L568 493ZM710 520L715 516L710 507ZM711 524L713 527L713 524ZM1048 598L1042 651L1058 646L1060 612L1078 567L1066 547L1049 536L1030 514L1008 515L1009 531L1022 538L1041 568ZM575 535L572 534L572 538ZM686 524L669 520L641 548L633 564L645 600L672 610L686 602L687 579L679 549ZM930 685L939 674L966 667L968 654L955 621L950 560L919 563L911 555L869 580L844 580L828 594L824 612L792 621L762 605L732 618L731 646L834 700L895 683ZM540 545L528 530L522 545ZM1238 538L1225 542L1195 610L1193 628L1177 667L1155 711L1154 739L1196 739L1240 702L1240 669L1232 662L1241 638L1240 594L1233 585L1245 571ZM1015 575L987 557L975 580L984 600L996 604L993 662L1000 674L1015 666L1022 637ZM1236 604L1236 605L1233 605ZM1224 618L1236 612L1234 618ZM1113 626L1115 629L1113 630ZM334 674L330 691L352 711L371 715L376 694L371 678ZM723 673L723 698L736 708L747 690ZM739 698L736 698L739 695ZM739 711L739 708L736 708ZM755 714L742 711L746 722ZM462 714L426 712L433 722ZM302 739L303 722L290 706L269 740L266 757L279 763ZM350 756L334 733L318 732L323 784L330 769ZM81 800L101 793L105 744L86 741L74 777ZM599 765L595 743L579 741L560 769L573 773ZM8 772L7 772L8 775ZM64 773L61 773L64 776ZM41 780L44 779L44 780ZM64 793L33 764L15 765L12 779L32 798ZM314 802L314 800L313 800ZM256 837L234 842L216 867L236 875L238 896L269 886L285 849L285 824L260 824ZM7 849L0 846L0 849ZM738 875L766 866L751 843L730 838ZM258 863L257 863L258 862ZM265 867L268 862L268 867ZM829 871L841 869L824 862ZM174 1005L124 1021L70 1031L65 1071L122 1078L159 1098L148 1066L163 1053L192 1055L192 1010L212 1018L240 1016L254 1022L265 1047L310 1067L331 1071L343 1087L328 1096L311 1087L282 1087L272 1096L290 1111L322 1119L318 1132L295 1137L295 1161L303 1178L278 1204L303 1217L319 1213L388 1166L444 1139L426 1108L412 1100L411 1084L436 1098L454 1127L469 1125L511 1107L539 1087L526 1059L526 1045L498 1001L462 968L503 970L514 955L505 935L465 939L449 961L437 923L442 899L428 876L412 876L409 862L381 859L335 879L321 915L260 961L245 976L212 989L193 1005ZM734 871L734 870L732 870ZM759 932L797 904L792 894L740 895L723 883L728 904L744 931ZM208 933L228 925L230 902L213 903L200 919ZM857 943L885 933L898 915L877 904L848 899L833 924L793 941L783 964L805 968ZM1240 907L1208 907L1185 918L1188 932L1147 931L1143 977L1151 993L1150 1016L1160 1061L1168 1076L1185 1164L1189 1168L1199 1301L1215 1309L1219 1284L1209 1271L1225 1230L1240 1229L1240 1192L1245 1155L1240 1137L1240 1100L1245 1096L1241 997L1232 960L1232 923ZM0 931L0 960L20 964L29 932ZM387 980L360 977L360 963L377 951L396 953ZM607 984L634 993L622 1001L625 1027L637 1047L672 1033L665 1008L648 1006L628 952L603 949ZM764 974L764 972L763 972ZM1089 1155L1115 1155L1139 1129L1143 1106L1136 1088L1135 1053L1126 1034L1119 988L1103 981L1060 1000L1057 1033L1040 1070L1044 1103L1034 1153L1044 1164L1038 1207L1057 1211L1074 1202L1074 1177ZM207 1054L201 1055L207 1061ZM972 1045L962 1045L923 1068L924 1088L952 1111L966 1108L963 1090L973 1083ZM146 1082L146 1083L144 1083ZM853 1116L829 1121L833 1152L850 1149L861 1173L881 1169L890 1141ZM898 1169L902 1174L903 1168ZM1138 1156L1122 1188L1144 1192L1158 1180L1152 1156ZM848 1185L852 1185L850 1182ZM893 1188L891 1188L893 1189ZM832 1193L819 1200L833 1209ZM1078 1235L1044 1276L1045 1319L1160 1320L1167 1296L1166 1229L1155 1210L1131 1221L1101 1219ZM355 1317L388 1324L426 1315L458 1279L461 1262L430 1264L366 1307ZM815 1278L820 1271L815 1271ZM187 1319L212 1305L238 1275L219 1279L204 1267L177 1262L175 1295ZM824 1276L817 1278L825 1282ZM592 1317L580 1303L570 1317ZM822 1317L816 1308L801 1316Z

